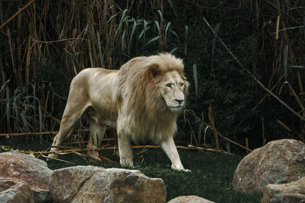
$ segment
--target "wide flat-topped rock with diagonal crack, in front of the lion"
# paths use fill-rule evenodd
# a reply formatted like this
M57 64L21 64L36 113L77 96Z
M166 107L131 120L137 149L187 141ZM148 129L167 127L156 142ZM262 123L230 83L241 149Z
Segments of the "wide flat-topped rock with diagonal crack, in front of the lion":
M49 190L55 202L165 202L162 179L140 171L96 166L55 170Z

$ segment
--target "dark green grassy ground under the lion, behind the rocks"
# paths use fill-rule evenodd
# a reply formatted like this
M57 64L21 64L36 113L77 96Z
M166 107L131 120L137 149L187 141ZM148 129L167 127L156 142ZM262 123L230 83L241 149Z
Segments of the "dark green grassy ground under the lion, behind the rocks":
M33 151L45 150L49 147L38 143L6 144L14 147L14 149ZM262 193L243 194L233 190L233 174L242 159L241 156L179 150L182 164L192 171L192 173L185 173L171 170L170 160L160 149L148 149L139 155L137 153L140 150L133 150L133 152L135 161L135 168L133 169L140 170L150 178L163 179L167 189L167 200L182 195L197 195L211 201L229 203L260 202L262 197ZM106 150L104 156L119 162L118 158L113 155L112 150ZM52 170L75 165L95 165L105 168L120 167L114 164L83 160L77 155L61 155L60 159L71 161L75 164L57 160L46 162Z

